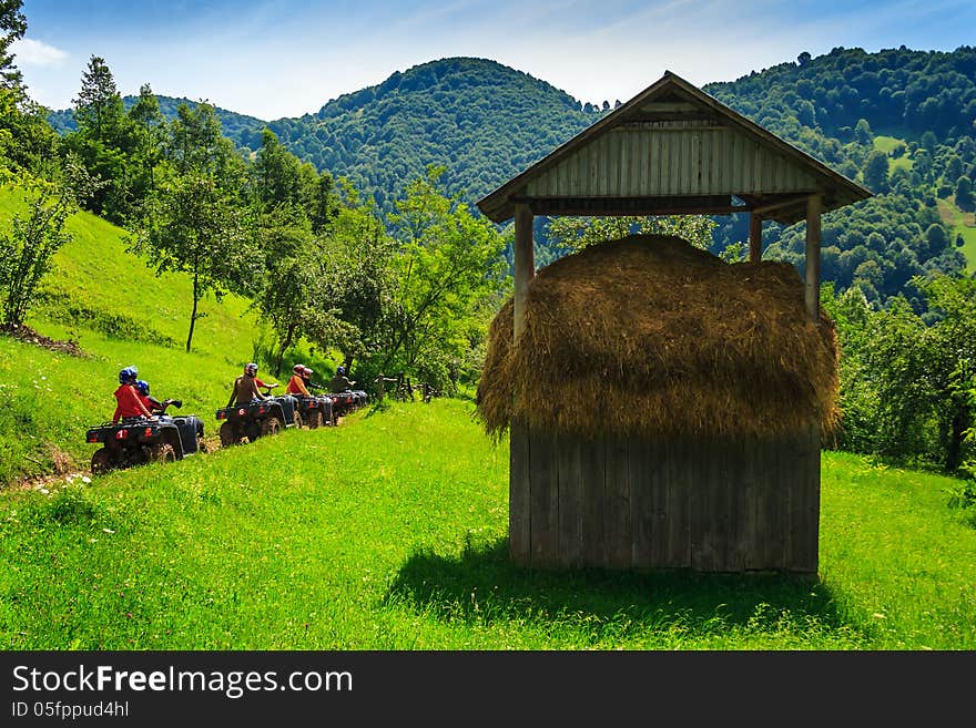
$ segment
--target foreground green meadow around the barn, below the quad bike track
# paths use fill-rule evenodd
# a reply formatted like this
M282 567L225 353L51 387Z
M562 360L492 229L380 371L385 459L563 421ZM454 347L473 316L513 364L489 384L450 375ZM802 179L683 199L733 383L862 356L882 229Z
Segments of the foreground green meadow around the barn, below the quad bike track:
M392 403L0 499L7 649L973 649L955 481L824 453L820 581L530 571L508 449Z

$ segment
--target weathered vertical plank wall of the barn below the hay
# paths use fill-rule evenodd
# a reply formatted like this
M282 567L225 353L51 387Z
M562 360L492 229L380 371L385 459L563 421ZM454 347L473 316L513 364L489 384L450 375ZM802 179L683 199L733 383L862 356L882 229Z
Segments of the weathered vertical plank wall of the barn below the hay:
M539 567L815 574L820 434L584 439L511 429L510 554Z

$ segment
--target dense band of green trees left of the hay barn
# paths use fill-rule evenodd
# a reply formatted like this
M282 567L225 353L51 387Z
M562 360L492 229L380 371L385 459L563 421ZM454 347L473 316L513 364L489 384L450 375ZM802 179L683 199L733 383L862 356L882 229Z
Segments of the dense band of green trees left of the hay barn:
M20 262L0 279L13 327L67 239L64 218L80 207L129 230L130 249L159 274L187 275L187 351L203 297L233 291L272 331L264 355L275 371L304 340L355 365L363 381L403 372L449 392L477 377L508 285L505 240L443 192L443 167L410 182L383 215L348 180L299 162L271 130L256 151L235 147L206 102L181 104L170 120L145 84L125 109L96 55L73 100L75 129L59 136L8 53L26 30L20 3L2 7L2 168L24 189L43 187L37 214L3 238L4 259ZM24 265L37 273L27 284Z

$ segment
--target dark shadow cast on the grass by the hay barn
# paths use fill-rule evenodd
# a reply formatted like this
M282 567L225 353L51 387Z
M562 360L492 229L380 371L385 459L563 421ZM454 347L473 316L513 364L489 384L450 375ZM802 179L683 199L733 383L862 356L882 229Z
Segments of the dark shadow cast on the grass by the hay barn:
M855 640L858 632L838 614L830 589L810 576L533 570L509 560L507 539L467 544L459 556L414 553L385 602L470 624L563 622L594 637L654 628L719 634L736 625L775 632L784 623L801 630L845 632Z

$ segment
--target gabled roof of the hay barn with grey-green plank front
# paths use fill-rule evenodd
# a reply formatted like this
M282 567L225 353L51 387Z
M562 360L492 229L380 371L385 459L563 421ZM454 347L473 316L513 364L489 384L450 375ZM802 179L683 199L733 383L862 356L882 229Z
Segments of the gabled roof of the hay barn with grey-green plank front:
M791 224L872 193L670 71L478 202L496 223L535 215L721 215Z

